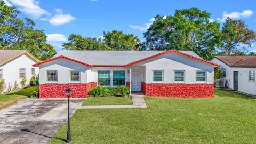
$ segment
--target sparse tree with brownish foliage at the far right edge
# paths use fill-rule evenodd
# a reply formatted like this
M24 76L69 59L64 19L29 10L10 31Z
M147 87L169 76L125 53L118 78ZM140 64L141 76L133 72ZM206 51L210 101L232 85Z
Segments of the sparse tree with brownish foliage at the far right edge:
M239 51L246 52L248 47L256 40L256 34L250 30L242 20L226 19L222 30L224 46L221 50L227 55L237 53ZM241 46L244 45L244 46Z

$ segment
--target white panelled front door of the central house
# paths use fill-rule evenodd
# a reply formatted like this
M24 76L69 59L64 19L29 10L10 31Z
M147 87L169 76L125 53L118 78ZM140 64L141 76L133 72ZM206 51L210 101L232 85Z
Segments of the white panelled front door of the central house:
M141 80L140 80L140 70L132 70L132 91L140 92L141 91Z

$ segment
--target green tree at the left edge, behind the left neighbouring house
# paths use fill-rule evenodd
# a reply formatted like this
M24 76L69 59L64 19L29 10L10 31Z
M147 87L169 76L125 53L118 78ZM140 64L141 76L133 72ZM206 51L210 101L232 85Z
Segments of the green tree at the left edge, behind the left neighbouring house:
M46 44L43 30L34 29L33 20L18 18L15 7L6 6L0 0L0 49L27 50L40 60L51 58L56 51Z

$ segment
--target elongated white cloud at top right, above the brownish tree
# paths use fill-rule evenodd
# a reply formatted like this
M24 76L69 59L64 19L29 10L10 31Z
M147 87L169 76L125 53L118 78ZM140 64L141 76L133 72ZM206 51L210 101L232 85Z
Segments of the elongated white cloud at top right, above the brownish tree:
M243 12L231 12L228 13L227 11L222 13L222 18L217 18L217 20L225 22L227 18L231 19L241 19L241 18L248 18L253 14L252 10L244 10Z

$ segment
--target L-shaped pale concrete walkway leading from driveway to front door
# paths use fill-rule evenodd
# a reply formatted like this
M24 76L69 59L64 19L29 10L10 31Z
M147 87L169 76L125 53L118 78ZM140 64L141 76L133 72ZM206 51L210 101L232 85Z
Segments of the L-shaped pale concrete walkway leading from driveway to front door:
M96 109L96 108L147 108L142 93L132 94L132 105L98 105L98 106L80 106L78 109Z

